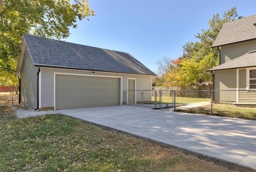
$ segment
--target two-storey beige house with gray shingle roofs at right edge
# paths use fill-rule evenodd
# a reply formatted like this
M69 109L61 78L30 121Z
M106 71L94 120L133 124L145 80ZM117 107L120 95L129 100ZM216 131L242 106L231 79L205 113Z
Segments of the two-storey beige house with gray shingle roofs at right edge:
M256 104L256 15L224 23L212 47L220 65L214 74L216 103ZM242 91L243 90L243 91Z

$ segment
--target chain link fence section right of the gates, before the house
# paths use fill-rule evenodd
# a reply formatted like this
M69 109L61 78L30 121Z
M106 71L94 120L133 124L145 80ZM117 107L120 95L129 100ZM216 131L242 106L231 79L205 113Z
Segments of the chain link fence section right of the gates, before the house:
M256 118L256 90L179 90L174 95L176 111Z

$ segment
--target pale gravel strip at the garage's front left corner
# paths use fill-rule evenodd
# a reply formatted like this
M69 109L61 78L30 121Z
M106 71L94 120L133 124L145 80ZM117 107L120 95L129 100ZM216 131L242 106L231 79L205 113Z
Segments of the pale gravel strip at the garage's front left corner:
M46 114L58 114L58 112L54 110L47 110L47 111L38 111L34 110L32 108L20 108L17 106L12 106L12 110L16 111L16 116L18 118L26 118L30 116L40 116L40 115L46 115Z

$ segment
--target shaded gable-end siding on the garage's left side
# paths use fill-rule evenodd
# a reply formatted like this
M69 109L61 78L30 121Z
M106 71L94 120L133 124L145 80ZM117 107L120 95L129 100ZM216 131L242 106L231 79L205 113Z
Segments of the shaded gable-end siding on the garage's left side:
M20 72L21 103L30 108L37 107L37 72L28 50L25 50Z

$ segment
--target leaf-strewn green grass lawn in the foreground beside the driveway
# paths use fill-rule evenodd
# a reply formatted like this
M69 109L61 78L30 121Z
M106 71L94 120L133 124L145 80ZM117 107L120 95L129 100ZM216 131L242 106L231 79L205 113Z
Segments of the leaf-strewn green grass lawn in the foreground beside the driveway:
M61 114L19 119L7 106L0 138L3 172L253 171Z

